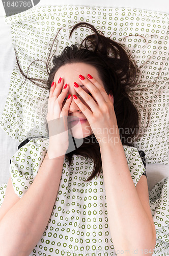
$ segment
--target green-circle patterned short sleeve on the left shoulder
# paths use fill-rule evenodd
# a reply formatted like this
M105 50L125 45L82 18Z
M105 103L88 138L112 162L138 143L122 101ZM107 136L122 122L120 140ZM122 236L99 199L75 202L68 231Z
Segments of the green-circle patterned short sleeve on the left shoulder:
M36 137L24 140L11 158L10 176L15 193L22 197L34 181L45 158L48 138Z

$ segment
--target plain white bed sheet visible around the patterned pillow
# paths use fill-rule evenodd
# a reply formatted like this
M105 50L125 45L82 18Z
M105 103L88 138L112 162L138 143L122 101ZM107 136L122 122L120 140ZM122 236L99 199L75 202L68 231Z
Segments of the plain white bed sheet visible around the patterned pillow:
M57 4L56 1L49 0L47 4ZM70 4L68 1L62 1L62 4ZM72 5L83 5L82 1L71 1ZM103 1L86 1L86 6L103 6ZM46 5L45 1L40 1L39 6ZM116 7L117 5L112 4L112 1L104 1L104 6ZM134 7L142 8L147 10L156 10L169 13L167 1L118 1L118 7ZM0 116L3 113L4 105L7 99L9 83L11 73L15 64L15 54L12 46L12 37L10 26L5 23L5 11L0 2L0 51L1 51L1 62L0 62L0 77L1 77L1 94L0 94ZM19 142L9 137L2 129L0 129L0 143L1 143L1 158L0 158L0 184L7 183L9 179L9 165L10 158L17 151ZM148 175L148 186L151 189L157 181L163 177L168 176L168 165L164 164L147 164L147 175Z

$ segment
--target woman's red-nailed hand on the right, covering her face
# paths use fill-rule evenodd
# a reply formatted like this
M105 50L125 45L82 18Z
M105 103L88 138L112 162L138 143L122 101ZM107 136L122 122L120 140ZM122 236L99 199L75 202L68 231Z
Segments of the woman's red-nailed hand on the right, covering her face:
M79 75L79 79L82 84L91 92L90 96L85 92L77 83L74 83L74 88L78 95L89 105L83 104L81 100L76 96L73 97L74 102L78 105L78 108L86 116L91 129L101 145L102 143L116 143L120 140L119 128L117 125L116 114L114 111L114 99L110 94L107 95L103 85L101 85L95 78L88 75L88 78Z

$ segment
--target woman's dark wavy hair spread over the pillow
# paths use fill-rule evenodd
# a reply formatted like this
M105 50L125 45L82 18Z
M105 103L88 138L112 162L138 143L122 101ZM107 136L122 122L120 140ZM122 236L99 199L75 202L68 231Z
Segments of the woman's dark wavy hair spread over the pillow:
M46 63L47 72L49 74L46 82L47 89L50 91L54 75L60 67L69 63L78 62L92 65L98 71L106 93L113 95L114 97L114 110L122 144L133 146L133 141L140 137L138 134L140 115L136 105L131 102L128 95L129 92L135 91L134 87L136 86L139 77L139 70L135 60L118 42L109 37L105 37L101 31L96 30L94 26L88 23L80 22L76 24L72 28L69 38L73 31L78 27L88 27L94 31L94 34L87 36L81 42L81 45L74 44L67 46L61 55L53 55L53 68L50 72L48 72L48 57ZM57 36L55 36L55 38L56 37ZM40 86L40 84L35 81L41 79L29 78L21 69L20 72L25 78L30 79L37 84L37 86ZM143 89L137 88L137 90ZM83 138L82 145L76 148L76 150L66 153L70 165L73 160L73 155L83 156L86 157L86 159L89 157L93 160L93 172L86 181L90 181L97 174L100 174L102 167L100 146L94 134Z

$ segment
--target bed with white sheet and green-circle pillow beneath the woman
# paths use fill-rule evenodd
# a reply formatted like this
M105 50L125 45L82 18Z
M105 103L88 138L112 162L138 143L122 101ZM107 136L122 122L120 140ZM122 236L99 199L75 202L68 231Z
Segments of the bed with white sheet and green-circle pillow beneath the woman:
M135 147L146 154L149 200L154 222L162 218L163 214L165 216L165 219L161 221L162 225L159 221L156 224L158 238L156 255L166 255L165 253L169 253L169 226L166 217L169 205L164 206L164 199L162 203L161 199L164 194L169 198L169 11L166 12L165 5L158 7L163 6L164 9L160 11L159 9L151 10L150 7L147 9L146 3L142 9L140 9L141 6L133 6L133 3L129 5L129 2L127 6L120 3L121 6L119 4L118 7L111 3L105 3L105 6L100 3L99 6L98 1L97 5L94 5L94 2L92 4L93 6L87 2L86 6L83 6L78 2L78 5L76 3L69 5L65 1L63 5L55 5L51 1L46 6L45 2L40 1L36 7L6 19L1 9L0 43L3 50L1 50L0 71L2 92L0 96L0 185L3 185L0 187L0 204L10 177L10 159L17 151L18 145L26 138L47 135L43 125L45 119L40 109L45 101L47 102L48 94L45 89L37 90L30 81L22 82L24 79L16 65L14 49L26 73L30 63L43 56L43 49L48 51L52 41L47 41L47 38L53 37L61 27L60 42L57 52L53 50L54 54L60 53L63 45L81 40L85 35L84 31L76 32L69 40L69 29L75 22L80 20L91 22L98 29L103 30L105 35L112 35L112 38L127 47L142 71L138 89L144 88L145 91L130 95L135 104L140 104L139 113L142 116L143 136L135 142ZM36 31L36 34L39 34L37 38L32 36L30 31ZM36 51L37 46L39 51ZM46 61L46 58L44 57L43 60ZM30 68L29 75L47 79L44 62L35 61ZM41 100L38 100L38 97ZM158 250L161 250L161 254L158 254Z

